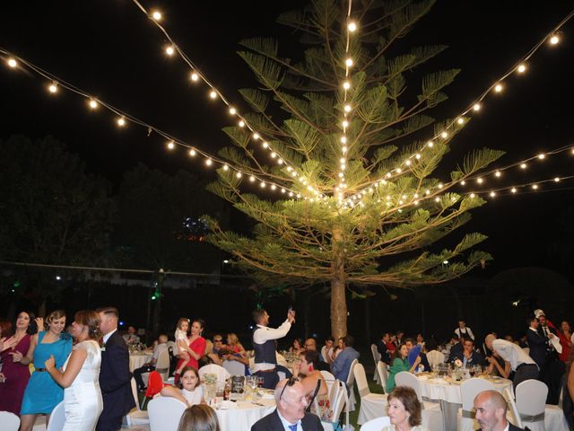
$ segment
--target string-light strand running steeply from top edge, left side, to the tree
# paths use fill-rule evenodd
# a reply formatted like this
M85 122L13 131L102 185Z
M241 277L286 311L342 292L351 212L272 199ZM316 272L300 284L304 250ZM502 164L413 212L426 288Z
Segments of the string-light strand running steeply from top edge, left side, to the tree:
M270 143L269 140L266 140L264 134L257 129L244 117L239 113L239 110L233 107L230 101L225 97L225 95L213 84L207 76L196 66L196 64L191 60L190 57L186 55L186 53L179 48L178 44L173 40L170 36L170 33L161 25L161 20L163 19L163 14L158 10L152 10L152 12L147 11L142 4L138 2L138 0L132 0L134 4L143 12L145 15L157 26L158 29L163 33L166 39L170 42L170 44L165 48L165 53L172 57L176 53L179 57L189 66L191 73L189 75L191 81L193 83L198 83L203 81L209 88L209 98L212 101L220 100L222 101L228 108L229 113L231 116L236 117L238 119L238 126L239 128L248 128L251 132L251 138L256 142L261 142L261 146L269 152L270 157L274 160L275 163L279 165L284 165L286 171L291 175L292 180L299 180L303 186L307 187L307 190L318 198L324 198L321 195L317 185L314 188L312 185L309 184L311 181L308 178L300 173L300 168L295 167L294 163L291 163L284 154L281 154L274 148Z

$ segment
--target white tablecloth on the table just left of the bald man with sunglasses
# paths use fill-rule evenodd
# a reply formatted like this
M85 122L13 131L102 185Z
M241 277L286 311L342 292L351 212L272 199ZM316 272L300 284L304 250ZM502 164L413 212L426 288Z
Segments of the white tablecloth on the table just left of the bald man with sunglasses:
M237 401L234 404L237 406L235 409L216 409L219 426L223 431L250 431L257 420L275 409L275 400L257 399Z

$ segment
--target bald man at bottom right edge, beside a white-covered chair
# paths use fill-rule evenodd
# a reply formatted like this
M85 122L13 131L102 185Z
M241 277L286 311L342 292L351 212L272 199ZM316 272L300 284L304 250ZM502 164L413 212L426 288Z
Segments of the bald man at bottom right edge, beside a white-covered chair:
M524 431L506 420L507 404L499 391L482 391L474 398L477 431Z

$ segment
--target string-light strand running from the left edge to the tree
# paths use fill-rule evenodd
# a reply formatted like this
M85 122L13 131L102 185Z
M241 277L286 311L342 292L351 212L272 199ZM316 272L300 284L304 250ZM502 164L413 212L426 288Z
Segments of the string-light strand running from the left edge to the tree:
M248 178L248 180L252 183L258 182L261 189L266 189L267 187L269 187L269 189L273 191L280 191L282 194L289 196L289 198L309 199L309 197L302 196L300 192L297 192L294 189L290 189L274 181L262 178L260 174L257 175L255 172L248 172L244 169L240 169L237 166L234 166L233 164L228 163L213 154L209 154L204 150L199 149L195 145L189 145L186 142L178 139L177 137L171 136L169 133L161 130L160 128L156 128L155 126L152 126L152 124L146 123L142 119L138 119L130 115L126 111L120 110L117 107L109 104L108 102L101 100L100 98L91 96L89 92L84 91L83 89L75 86L74 84L66 82L64 79L61 79L56 75L49 73L48 71L40 68L39 66L34 65L30 61L22 57L15 56L13 53L2 47L0 47L0 54L3 54L6 57L5 63L11 69L16 69L19 66L20 67L26 66L28 70L34 72L36 75L39 75L47 79L49 83L48 92L52 94L57 94L57 92L59 92L61 89L65 89L69 92L73 92L86 99L90 110L97 110L98 108L102 107L106 110L113 112L116 115L116 124L117 127L119 128L124 128L127 126L128 123L133 123L137 126L145 128L148 132L148 136L152 132L155 132L156 134L163 136L167 140L166 147L170 151L174 150L176 146L184 147L187 149L187 154L190 157L196 157L196 156L203 157L205 166L211 167L213 165L215 166L219 165L220 167L222 167L224 171L235 172L235 175L238 179L242 179L243 177L245 177ZM312 199L315 200L315 198Z

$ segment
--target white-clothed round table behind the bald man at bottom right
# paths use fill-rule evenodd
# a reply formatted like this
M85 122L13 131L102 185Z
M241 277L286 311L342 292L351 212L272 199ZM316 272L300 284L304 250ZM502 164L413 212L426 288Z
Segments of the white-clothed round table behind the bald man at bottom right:
M462 407L461 382L447 381L442 377L430 378L428 374L417 375L421 383L422 397L440 402L446 431L457 430L457 412ZM506 388L512 389L512 381L502 378L489 379L494 389L504 394Z

